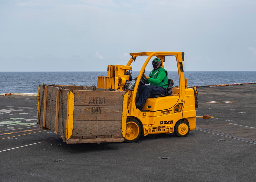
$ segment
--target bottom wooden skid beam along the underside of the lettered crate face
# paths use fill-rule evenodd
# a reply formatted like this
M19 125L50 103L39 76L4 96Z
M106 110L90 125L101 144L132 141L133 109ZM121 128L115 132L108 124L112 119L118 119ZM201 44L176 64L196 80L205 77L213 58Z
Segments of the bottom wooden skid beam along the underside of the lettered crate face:
M82 144L82 143L104 143L104 142L122 142L122 141L124 141L124 138L83 138L83 139L69 139L66 141L66 143Z

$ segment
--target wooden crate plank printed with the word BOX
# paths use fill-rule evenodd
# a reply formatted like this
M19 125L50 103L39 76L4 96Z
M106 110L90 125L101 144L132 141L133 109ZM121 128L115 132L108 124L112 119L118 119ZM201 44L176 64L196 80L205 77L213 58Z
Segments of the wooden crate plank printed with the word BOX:
M74 106L74 120L122 121L122 106Z

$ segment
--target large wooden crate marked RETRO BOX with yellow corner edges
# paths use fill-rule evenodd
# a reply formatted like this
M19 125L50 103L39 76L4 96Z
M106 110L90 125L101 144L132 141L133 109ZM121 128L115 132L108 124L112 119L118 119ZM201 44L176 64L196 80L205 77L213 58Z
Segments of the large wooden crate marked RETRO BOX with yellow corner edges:
M124 141L126 92L72 85L58 90L62 86L39 85L37 121L41 128L53 130L67 144Z

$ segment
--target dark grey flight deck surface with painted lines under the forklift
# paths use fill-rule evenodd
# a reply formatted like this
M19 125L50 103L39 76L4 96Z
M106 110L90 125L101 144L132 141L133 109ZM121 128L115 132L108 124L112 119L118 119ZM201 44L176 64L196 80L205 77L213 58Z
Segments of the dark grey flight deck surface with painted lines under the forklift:
M256 84L197 90L213 119L135 143L66 144L36 125L37 97L2 96L0 181L255 181Z

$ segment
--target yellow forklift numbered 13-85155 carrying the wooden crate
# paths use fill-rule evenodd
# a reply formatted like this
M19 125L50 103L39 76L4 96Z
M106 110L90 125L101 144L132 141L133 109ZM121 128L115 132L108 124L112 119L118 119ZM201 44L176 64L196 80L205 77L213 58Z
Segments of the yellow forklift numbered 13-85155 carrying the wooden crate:
M124 65L109 65L107 76L98 77L98 88L109 90L121 90L127 95L127 115L125 137L126 142L134 142L141 135L158 133L174 133L178 137L185 137L189 131L196 128L196 109L198 107L196 88L187 87L187 79L184 77L184 53L183 52L141 52L130 53L131 58ZM146 57L146 60L135 79L132 79L132 63L138 57ZM142 110L135 106L138 97L137 90L147 84L144 75L148 63L155 57L162 60L164 68L167 57L175 57L172 66L177 65L178 80L168 78L166 93L151 95ZM168 69L168 68L167 68ZM132 80L135 81L131 84ZM177 84L178 86L174 86ZM126 104L126 103L125 103Z

